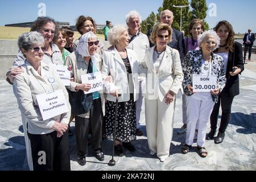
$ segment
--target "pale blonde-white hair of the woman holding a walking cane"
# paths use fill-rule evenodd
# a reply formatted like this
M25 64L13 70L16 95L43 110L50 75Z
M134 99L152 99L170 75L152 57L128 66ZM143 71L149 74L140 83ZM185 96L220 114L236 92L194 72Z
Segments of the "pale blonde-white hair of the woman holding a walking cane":
M123 24L118 24L113 28L110 28L109 34L108 34L109 43L112 44L113 46L116 45L119 42L123 32L127 30L128 30L128 27Z

